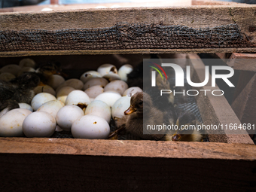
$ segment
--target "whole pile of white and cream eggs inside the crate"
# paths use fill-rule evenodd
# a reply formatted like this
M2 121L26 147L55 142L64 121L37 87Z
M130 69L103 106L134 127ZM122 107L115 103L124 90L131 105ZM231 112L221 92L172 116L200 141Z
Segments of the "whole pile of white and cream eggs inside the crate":
M50 137L56 130L66 130L74 138L107 139L111 117L123 117L130 97L142 91L126 84L132 70L129 64L118 71L104 64L97 71L85 72L80 80L51 75L47 85L35 87L31 105L20 104L0 116L0 136ZM82 110L81 106L87 107Z

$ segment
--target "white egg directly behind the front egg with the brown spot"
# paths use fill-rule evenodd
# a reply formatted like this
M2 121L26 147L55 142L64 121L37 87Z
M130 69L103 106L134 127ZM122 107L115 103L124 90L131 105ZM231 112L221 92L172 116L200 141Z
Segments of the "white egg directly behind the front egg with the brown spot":
M111 109L110 109L109 105L106 104L105 102L102 102L99 100L91 102L87 106L87 108L85 110L85 114L92 114L92 115L96 115L98 117L102 117L108 123L111 120Z

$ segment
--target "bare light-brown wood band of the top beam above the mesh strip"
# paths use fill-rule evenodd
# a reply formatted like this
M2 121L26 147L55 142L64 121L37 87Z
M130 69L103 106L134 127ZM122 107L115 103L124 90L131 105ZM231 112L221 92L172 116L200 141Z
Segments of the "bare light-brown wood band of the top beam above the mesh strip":
M2 30L78 29L110 27L118 22L162 23L193 28L236 23L256 43L256 5L212 5L168 8L105 8L73 11L2 13Z

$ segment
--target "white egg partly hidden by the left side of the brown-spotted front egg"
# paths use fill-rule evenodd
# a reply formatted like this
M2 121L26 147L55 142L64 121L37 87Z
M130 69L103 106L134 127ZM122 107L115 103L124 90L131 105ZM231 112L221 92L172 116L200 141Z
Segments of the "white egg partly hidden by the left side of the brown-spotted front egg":
M70 131L72 123L79 117L84 116L84 111L75 105L66 105L59 109L56 122L62 130Z

